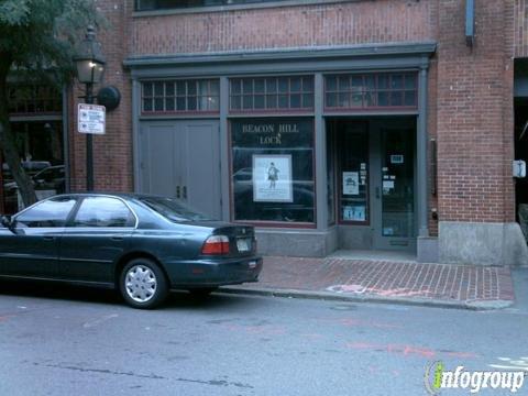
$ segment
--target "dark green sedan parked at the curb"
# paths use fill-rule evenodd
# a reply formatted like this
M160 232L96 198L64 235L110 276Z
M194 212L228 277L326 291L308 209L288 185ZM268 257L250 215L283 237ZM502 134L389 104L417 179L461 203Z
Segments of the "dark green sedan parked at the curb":
M117 288L135 308L170 289L206 295L256 282L253 227L207 219L172 198L69 194L2 217L0 278Z

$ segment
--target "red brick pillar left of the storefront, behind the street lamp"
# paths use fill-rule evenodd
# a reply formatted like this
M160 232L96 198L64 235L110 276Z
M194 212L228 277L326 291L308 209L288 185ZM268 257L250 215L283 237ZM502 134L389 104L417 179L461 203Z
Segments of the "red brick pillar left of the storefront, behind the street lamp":
M106 70L100 87L113 85L121 91L120 106L107 112L105 135L94 136L94 186L96 190L130 191L133 189L132 168L132 109L131 84L129 73L122 62L128 56L127 38L132 3L130 1L97 1L100 11L108 20L108 28L99 30L96 38L102 44L106 57ZM84 95L84 86L74 90L75 106L72 120L77 120L77 99ZM77 124L70 128L70 169L72 189L86 188L86 139L77 132Z

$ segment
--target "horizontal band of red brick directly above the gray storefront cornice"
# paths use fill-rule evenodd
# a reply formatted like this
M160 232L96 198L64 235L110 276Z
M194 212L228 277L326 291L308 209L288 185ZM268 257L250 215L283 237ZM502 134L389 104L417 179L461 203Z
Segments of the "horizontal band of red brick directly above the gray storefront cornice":
M136 18L133 54L205 53L433 38L436 1L378 0Z

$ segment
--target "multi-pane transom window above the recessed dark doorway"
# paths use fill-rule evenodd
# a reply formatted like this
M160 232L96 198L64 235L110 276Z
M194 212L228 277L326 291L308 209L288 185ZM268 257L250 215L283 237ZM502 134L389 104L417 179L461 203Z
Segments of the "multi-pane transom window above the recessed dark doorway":
M324 78L327 110L417 109L416 73L329 75Z

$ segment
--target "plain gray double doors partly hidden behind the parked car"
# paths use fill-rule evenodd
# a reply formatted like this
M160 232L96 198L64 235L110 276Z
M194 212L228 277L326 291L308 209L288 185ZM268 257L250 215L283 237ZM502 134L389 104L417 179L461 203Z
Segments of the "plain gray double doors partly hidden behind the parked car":
M141 193L176 197L220 219L218 121L145 121L140 145Z

